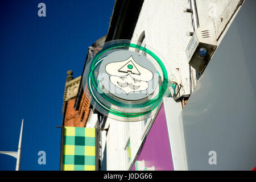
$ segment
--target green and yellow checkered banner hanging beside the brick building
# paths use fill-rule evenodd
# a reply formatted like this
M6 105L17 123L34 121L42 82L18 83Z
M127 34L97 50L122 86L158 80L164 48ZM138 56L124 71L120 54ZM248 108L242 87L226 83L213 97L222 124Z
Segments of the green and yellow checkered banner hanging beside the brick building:
M96 129L64 127L64 171L95 171Z

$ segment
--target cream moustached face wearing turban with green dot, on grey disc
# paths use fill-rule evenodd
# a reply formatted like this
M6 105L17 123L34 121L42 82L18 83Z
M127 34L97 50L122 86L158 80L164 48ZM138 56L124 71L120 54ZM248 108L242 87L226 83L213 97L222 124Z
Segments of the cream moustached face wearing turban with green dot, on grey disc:
M137 64L133 56L124 61L107 64L105 71L110 75L109 80L126 94L146 90L148 81L153 78L153 73Z

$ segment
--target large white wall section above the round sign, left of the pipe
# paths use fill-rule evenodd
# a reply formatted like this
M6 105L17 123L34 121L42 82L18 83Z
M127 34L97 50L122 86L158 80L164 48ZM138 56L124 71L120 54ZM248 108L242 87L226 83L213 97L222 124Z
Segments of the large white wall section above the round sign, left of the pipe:
M189 8L189 1L184 0L146 0L139 14L132 40L138 41L145 31L145 43L162 55L170 65L171 74L180 83L180 68L184 90L181 94L189 94L189 65L185 48L191 37L186 32L193 31L191 14L183 10Z

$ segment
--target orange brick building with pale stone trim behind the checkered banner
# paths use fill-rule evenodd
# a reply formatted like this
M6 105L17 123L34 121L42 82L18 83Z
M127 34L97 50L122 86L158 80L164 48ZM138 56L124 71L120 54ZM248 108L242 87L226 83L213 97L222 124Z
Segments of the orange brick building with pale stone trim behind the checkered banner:
M86 59L84 68L86 65L86 60L90 53L94 51L97 53L100 48L101 44L105 42L106 36L96 40L92 46L88 47L88 51L86 53ZM82 70L84 72L84 70ZM64 127L98 127L98 121L102 121L104 117L100 113L97 113L96 110L92 109L90 106L90 101L88 100L88 96L85 95L84 89L82 88L82 76L77 78L73 78L73 72L67 72L67 78L65 82L65 89L64 89L64 98L63 98L63 122L61 126L61 149L60 149L60 170L63 170L63 156L64 156L64 144L65 144L65 137L64 137ZM92 115L97 115L97 117L92 117ZM89 126L86 126L88 122L88 118L90 119L93 124L90 123ZM102 123L102 122L101 122ZM99 150L98 148L98 133L96 131L96 153ZM98 155L96 155L96 170L99 168L98 166Z

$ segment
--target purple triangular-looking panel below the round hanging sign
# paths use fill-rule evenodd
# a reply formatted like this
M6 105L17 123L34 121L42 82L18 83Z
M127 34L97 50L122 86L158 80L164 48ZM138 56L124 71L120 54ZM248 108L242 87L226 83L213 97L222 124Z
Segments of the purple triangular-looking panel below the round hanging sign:
M139 151L137 160L144 160L145 167L155 166L155 171L174 171L163 105ZM135 163L131 171L135 171Z

